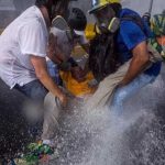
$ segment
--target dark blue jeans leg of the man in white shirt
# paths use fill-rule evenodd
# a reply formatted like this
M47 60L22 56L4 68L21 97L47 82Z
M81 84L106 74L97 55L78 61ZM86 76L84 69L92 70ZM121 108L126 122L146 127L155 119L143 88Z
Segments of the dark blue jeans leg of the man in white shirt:
M30 99L23 110L30 123L30 133L35 139L35 136L41 135L42 132L44 116L43 102L47 89L44 88L40 80L33 80L22 87L16 85L14 88L23 92Z

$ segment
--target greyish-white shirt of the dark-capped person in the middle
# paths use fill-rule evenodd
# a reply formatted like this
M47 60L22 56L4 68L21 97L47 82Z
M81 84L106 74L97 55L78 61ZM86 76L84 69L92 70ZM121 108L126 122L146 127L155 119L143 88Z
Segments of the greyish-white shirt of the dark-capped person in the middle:
M57 28L52 28L51 33L57 36L57 46L59 47L62 53L65 55L66 59L68 59L70 57L75 43L68 40L66 31L59 30ZM79 43L80 45L84 45L84 44L87 44L88 41L85 35L81 35L80 37L78 37L77 43Z

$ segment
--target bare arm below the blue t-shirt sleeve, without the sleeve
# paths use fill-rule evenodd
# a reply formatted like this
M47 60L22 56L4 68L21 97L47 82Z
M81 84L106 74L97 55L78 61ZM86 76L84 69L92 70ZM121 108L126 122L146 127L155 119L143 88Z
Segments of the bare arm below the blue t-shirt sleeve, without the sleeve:
M132 53L133 57L128 73L121 81L121 86L125 86L131 82L150 63L150 54L147 52L146 42L140 43L135 48L133 48Z

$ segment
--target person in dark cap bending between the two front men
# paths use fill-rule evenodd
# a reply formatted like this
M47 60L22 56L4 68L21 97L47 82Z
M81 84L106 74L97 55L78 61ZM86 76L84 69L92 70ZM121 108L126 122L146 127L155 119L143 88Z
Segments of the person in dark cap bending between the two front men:
M77 81L82 81L86 73L81 67L78 66L76 61L72 57L72 51L74 47L79 44L88 53L88 41L85 36L85 29L87 25L87 18L85 13L78 8L70 8L65 15L68 28L62 30L56 26L51 28L51 41L56 40L58 45L58 51L56 50L54 56L56 58L54 63L58 66L59 69L64 72L72 72L73 77ZM48 70L53 74L55 64L47 59ZM56 68L57 69L57 68Z

